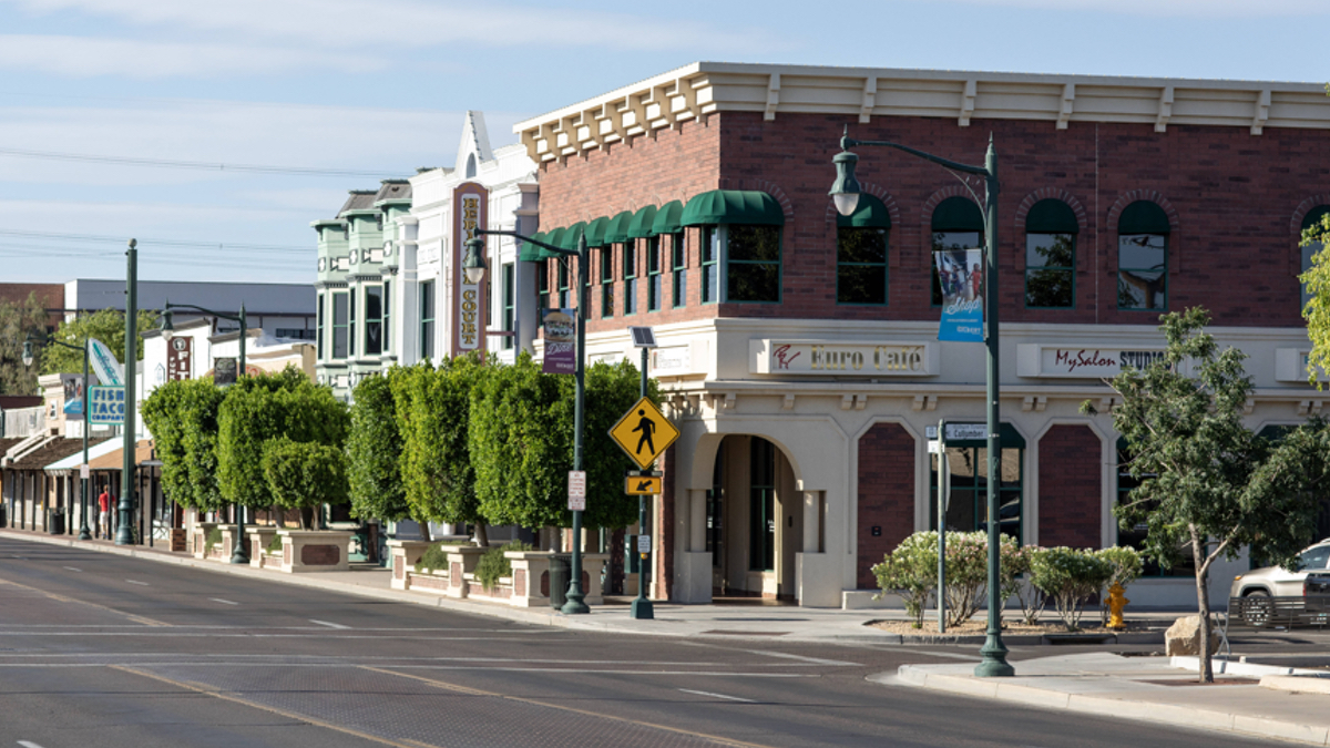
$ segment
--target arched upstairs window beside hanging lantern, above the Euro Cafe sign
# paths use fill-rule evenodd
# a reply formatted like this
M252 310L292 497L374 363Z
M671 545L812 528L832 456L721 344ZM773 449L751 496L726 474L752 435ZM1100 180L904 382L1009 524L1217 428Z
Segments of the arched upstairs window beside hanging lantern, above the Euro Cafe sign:
M837 303L887 303L887 233L891 216L871 194L851 216L837 216Z

